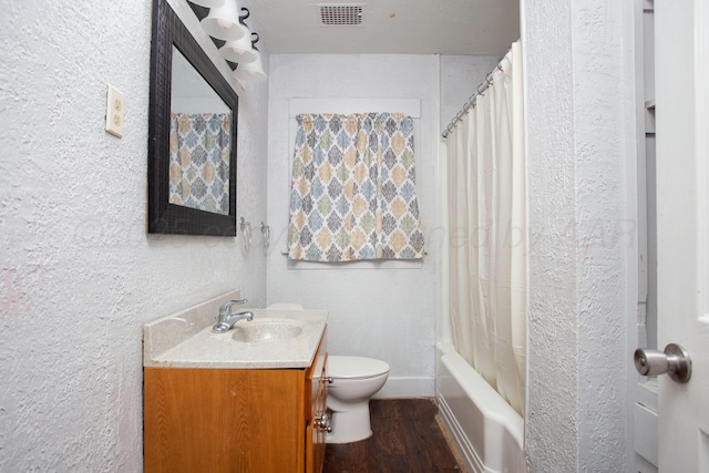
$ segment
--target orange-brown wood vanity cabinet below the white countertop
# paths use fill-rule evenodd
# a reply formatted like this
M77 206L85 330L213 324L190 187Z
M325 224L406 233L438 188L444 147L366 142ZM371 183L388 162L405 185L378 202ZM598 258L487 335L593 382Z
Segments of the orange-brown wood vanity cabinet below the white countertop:
M320 473L326 367L144 368L145 472Z

